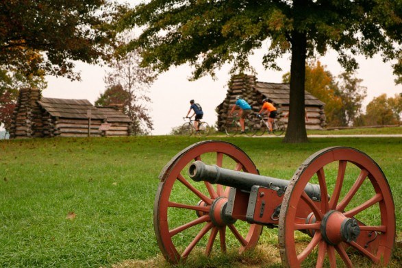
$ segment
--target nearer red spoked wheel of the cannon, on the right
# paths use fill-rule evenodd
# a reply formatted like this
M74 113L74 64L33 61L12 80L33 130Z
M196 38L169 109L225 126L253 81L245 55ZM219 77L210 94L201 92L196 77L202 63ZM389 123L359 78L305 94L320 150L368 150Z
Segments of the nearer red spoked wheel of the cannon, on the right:
M319 184L321 200L303 191L307 182ZM386 265L394 237L390 186L366 154L349 147L323 149L294 173L279 216L284 266Z

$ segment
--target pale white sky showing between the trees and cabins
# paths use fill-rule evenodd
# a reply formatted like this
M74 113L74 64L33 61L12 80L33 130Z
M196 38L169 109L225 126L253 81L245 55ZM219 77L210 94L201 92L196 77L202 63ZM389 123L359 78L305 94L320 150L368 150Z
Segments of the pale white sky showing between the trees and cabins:
M290 57L285 56L278 60L282 71L266 70L262 66L263 49L255 51L250 56L251 66L255 68L257 80L260 82L281 83L282 75L290 71ZM336 76L344 71L336 61L336 52L329 52L319 59L325 69ZM373 97L386 93L388 97L402 93L402 85L395 85L392 75L391 64L382 62L379 56L366 60L357 57L360 69L356 76L362 79L361 86L366 86L367 97L364 106ZM153 120L153 135L169 134L173 127L184 123L183 117L186 116L190 108L190 99L199 103L204 111L204 121L210 125L216 123L217 114L215 112L227 93L227 83L230 80L229 65L216 71L216 80L212 77L202 77L201 79L190 82L188 77L191 75L192 68L188 65L171 68L169 71L158 76L147 94L151 97L149 103L150 115ZM105 91L103 77L106 68L77 62L76 70L81 72L80 82L71 82L62 77L47 77L48 87L42 92L43 97L53 97L61 99L88 99L94 103L99 95Z

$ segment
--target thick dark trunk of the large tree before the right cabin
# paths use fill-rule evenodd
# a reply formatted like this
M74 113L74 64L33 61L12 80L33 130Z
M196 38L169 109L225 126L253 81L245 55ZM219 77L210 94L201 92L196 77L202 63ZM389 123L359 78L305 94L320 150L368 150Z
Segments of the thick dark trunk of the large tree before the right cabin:
M307 52L305 32L292 32L292 62L290 65L290 102L288 129L284 143L307 143L305 130L305 57Z

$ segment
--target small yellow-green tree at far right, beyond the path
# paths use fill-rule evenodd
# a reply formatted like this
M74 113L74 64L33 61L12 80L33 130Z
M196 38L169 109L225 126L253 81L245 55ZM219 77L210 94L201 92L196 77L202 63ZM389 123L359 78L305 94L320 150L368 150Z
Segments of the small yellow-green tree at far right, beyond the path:
M367 104L366 114L364 115L365 125L395 125L399 123L387 95L382 94L375 97Z

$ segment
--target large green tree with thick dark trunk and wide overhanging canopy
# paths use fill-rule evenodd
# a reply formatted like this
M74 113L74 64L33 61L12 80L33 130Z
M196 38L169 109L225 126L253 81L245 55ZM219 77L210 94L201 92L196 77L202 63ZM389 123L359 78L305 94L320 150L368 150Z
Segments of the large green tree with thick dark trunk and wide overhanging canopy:
M151 0L137 5L121 21L122 28L138 27L142 34L127 45L141 47L143 66L166 71L188 62L192 78L230 62L233 72L252 69L248 56L270 41L266 68L279 69L275 60L290 52L290 116L284 141L307 141L303 120L305 60L328 49L339 53L347 70L357 68L353 56L399 59L401 1L179 1ZM402 74L402 62L394 64Z

